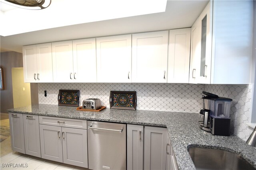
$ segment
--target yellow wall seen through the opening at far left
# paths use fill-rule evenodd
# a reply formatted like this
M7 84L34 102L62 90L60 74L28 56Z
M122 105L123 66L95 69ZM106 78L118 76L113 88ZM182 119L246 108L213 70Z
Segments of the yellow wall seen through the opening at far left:
M24 83L23 68L12 68L13 107L31 105L30 83Z

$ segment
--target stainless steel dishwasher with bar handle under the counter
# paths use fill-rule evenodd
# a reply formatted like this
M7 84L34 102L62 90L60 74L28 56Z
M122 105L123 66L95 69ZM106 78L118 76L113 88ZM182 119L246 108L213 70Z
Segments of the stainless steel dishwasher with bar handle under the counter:
M88 165L92 170L126 170L126 124L87 121Z

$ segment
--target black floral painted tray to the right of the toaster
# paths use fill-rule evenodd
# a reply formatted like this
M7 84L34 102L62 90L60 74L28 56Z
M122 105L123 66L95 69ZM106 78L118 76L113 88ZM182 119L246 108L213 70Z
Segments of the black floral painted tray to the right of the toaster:
M136 110L136 92L110 91L110 109Z

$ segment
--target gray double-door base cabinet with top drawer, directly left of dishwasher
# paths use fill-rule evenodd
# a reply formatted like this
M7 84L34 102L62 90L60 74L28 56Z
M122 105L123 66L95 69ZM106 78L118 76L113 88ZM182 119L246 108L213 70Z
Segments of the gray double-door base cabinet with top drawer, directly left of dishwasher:
M87 130L62 127L78 127L77 124L85 125L84 127L86 127L86 120L67 118L58 120L56 117L48 118L45 116L40 116L39 120L41 123L40 143L42 158L88 168ZM56 125L54 125L55 121ZM44 125L42 123L52 123L53 125ZM82 128L82 126L80 127Z

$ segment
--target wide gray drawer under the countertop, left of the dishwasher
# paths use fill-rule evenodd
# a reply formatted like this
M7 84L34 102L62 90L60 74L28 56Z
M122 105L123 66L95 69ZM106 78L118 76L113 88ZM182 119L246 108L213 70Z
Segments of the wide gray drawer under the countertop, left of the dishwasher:
M87 129L86 120L70 119L62 117L39 116L39 123L43 125L72 127L78 129Z

